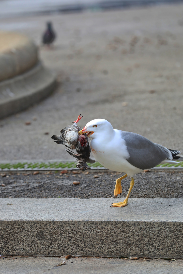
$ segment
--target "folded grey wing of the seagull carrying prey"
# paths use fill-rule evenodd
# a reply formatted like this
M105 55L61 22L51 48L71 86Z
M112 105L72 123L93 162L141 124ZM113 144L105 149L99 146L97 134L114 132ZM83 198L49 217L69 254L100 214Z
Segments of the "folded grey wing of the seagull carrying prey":
M139 134L121 131L121 136L129 153L126 160L139 169L150 169L167 158L172 159L171 152L166 147L155 144Z

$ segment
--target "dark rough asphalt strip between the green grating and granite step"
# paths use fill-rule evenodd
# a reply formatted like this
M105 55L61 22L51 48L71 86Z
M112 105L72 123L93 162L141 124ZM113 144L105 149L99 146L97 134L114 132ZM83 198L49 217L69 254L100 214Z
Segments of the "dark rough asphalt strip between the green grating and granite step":
M0 177L0 198L110 198L114 195L116 179L122 176L110 171L7 174ZM135 175L134 180L130 198L183 198L182 172L151 171ZM74 181L80 184L74 185ZM123 179L122 197L127 195L129 183L129 178Z

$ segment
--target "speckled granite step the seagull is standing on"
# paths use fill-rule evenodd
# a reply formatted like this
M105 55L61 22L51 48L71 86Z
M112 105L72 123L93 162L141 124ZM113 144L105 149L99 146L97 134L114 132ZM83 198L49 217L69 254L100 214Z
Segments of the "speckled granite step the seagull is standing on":
M1 255L183 258L183 199L0 199Z

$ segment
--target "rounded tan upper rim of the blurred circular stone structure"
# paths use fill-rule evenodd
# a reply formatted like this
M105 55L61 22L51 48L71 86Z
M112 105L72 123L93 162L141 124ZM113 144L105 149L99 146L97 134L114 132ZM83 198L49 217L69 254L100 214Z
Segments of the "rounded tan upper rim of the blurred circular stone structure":
M24 73L37 62L38 50L32 39L19 33L0 32L0 81Z

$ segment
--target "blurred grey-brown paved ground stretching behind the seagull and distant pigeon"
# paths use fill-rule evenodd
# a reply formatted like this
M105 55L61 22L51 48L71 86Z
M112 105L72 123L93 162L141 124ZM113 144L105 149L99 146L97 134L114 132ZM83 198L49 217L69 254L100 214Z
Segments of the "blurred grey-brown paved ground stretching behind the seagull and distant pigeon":
M81 126L105 118L114 128L183 151L182 12L183 5L163 5L1 18L2 30L27 34L37 44L52 21L55 48L41 47L40 56L58 73L52 96L0 121L1 160L71 159L50 137L80 113Z

